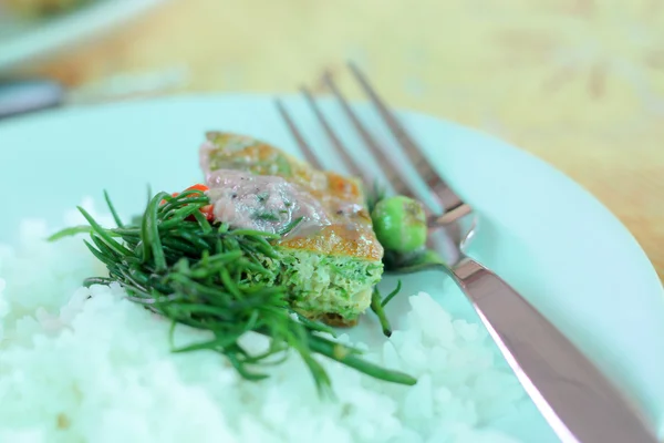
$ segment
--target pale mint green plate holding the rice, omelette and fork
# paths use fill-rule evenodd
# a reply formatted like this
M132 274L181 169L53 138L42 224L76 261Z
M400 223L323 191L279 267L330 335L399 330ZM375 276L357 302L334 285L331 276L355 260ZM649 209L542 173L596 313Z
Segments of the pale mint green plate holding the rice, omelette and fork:
M20 218L59 224L64 210L84 196L101 199L104 188L122 213L133 214L142 208L147 183L177 190L198 182L197 148L208 130L251 134L295 153L272 100L190 96L0 123L0 241L11 241ZM292 97L287 105L320 152L331 153L305 103ZM372 110L357 107L391 143ZM349 143L359 143L334 102L323 109L336 127L347 128ZM624 226L563 174L504 142L426 115L402 117L432 163L480 215L469 254L523 293L661 424L664 292ZM434 295L458 316L474 317L461 293L438 274L412 277L407 287ZM499 425L523 441L556 441L530 402Z

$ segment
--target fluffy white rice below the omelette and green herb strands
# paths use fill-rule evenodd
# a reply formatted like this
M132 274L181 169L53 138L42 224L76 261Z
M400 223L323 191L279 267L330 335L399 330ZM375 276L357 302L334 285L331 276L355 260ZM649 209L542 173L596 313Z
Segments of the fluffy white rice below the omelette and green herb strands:
M418 383L323 360L339 401L321 401L294 356L255 383L216 353L170 353L168 322L118 286L80 287L103 267L80 238L46 244L49 233L27 220L18 247L0 245L0 442L515 441L487 423L522 389L494 364L483 328L454 320L426 293L409 298L407 327L367 354ZM204 337L180 327L176 343Z

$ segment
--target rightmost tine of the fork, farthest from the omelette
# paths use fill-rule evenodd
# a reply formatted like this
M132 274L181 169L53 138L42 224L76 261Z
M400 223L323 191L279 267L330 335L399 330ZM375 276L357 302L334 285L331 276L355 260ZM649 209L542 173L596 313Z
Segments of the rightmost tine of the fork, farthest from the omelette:
M463 200L429 165L427 158L422 154L422 148L413 141L398 120L396 120L383 99L378 96L377 92L369 83L366 76L353 62L349 62L349 68L364 92L369 95L370 100L378 111L378 114L401 145L403 152L408 156L413 166L415 166L421 177L424 179L434 197L438 199L443 208L445 210L452 210L463 205Z

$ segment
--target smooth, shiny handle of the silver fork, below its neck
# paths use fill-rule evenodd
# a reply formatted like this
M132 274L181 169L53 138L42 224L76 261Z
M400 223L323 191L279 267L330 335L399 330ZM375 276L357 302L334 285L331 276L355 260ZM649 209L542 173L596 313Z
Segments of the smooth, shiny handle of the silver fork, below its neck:
M632 403L500 277L469 258L450 275L560 440L657 442Z

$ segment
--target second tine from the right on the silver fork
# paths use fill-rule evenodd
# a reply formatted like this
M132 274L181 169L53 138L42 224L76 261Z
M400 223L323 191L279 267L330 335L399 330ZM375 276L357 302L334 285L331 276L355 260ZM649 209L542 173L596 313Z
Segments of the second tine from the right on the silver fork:
M386 151L381 146L381 144L374 138L373 135L364 127L364 124L360 121L351 105L349 104L345 96L342 94L341 90L334 83L332 75L329 72L325 72L323 75L323 82L325 85L332 91L332 94L339 101L343 112L346 114L349 120L353 123L353 126L366 144L369 146L371 153L373 154L373 159L378 164L381 171L384 172L385 178L387 183L392 185L394 192L397 194L406 194L408 192L408 185L401 178L401 174L396 169L396 167L390 163Z

